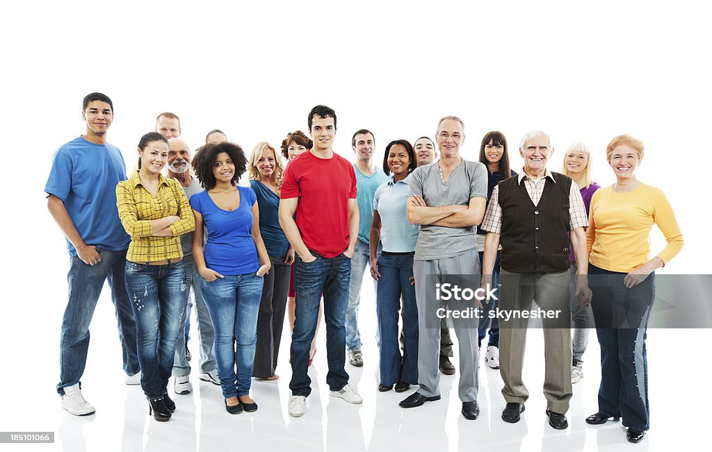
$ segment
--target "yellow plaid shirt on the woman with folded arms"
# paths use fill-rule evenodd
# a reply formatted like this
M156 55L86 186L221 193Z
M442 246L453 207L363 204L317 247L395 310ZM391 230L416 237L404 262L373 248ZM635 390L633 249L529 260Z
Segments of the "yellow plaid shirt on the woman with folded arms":
M128 181L116 185L116 206L121 224L131 236L126 259L131 262L156 262L180 259L183 252L180 235L195 229L195 217L183 187L175 179L159 175L157 195L152 195L141 182L138 171ZM152 235L152 220L177 215L180 220L170 225L172 237Z

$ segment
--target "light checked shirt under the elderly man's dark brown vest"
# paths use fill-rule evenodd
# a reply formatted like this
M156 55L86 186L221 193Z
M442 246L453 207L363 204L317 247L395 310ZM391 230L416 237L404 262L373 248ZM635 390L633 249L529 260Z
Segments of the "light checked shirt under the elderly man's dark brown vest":
M542 193L544 193L544 185L547 181L556 183L551 171L546 170L544 177L533 179L526 175L524 170L517 175L517 183L521 184L524 181L524 187L527 190L529 198L534 205L539 204ZM581 192L574 181L571 181L571 189L569 190L569 230L574 230L577 227L587 227L588 218L586 208L581 198ZM502 231L502 208L499 205L499 185L492 190L492 198L487 205L485 217L482 220L482 229L487 232L500 234Z

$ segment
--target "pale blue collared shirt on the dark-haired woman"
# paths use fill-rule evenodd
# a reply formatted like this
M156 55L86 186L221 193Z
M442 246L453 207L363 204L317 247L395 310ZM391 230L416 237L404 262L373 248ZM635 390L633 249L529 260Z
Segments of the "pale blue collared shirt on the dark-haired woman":
M392 253L414 252L418 241L418 225L411 225L405 213L410 197L410 174L402 181L387 183L376 189L373 210L381 217L381 243L383 251Z

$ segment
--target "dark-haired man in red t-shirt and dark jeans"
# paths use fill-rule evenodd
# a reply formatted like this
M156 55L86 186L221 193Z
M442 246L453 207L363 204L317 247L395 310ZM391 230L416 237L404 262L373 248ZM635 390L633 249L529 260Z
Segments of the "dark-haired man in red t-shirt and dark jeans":
M359 223L356 174L352 164L332 149L336 134L334 110L317 105L309 112L308 125L314 147L287 166L279 203L280 225L297 254L289 383L289 414L295 417L304 414L311 392L307 375L309 348L322 294L330 394L352 404L363 402L348 384L344 369L351 258Z

